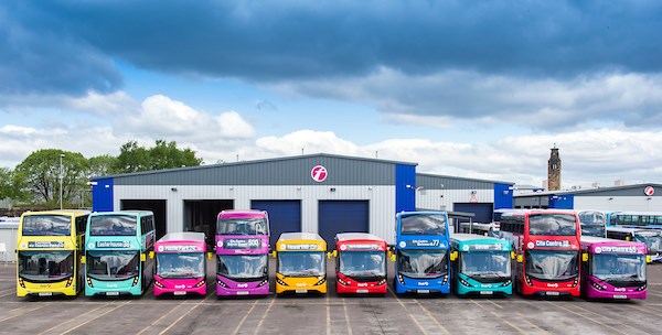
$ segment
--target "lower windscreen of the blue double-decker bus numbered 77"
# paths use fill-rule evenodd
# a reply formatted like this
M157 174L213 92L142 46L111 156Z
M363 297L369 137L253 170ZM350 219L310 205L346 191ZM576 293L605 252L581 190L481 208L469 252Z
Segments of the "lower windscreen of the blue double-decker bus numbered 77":
M417 279L438 278L447 272L446 250L397 250L398 271Z

